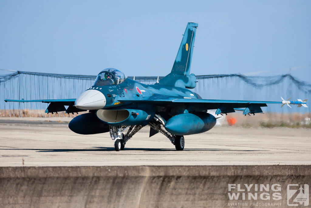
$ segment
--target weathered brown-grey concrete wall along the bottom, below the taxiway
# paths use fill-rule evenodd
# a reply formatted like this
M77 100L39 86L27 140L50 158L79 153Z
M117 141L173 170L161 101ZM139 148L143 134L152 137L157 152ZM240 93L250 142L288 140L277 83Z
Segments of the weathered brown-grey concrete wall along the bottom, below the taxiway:
M258 194L272 196L276 183L280 200L228 197L243 192L228 184L269 184ZM296 183L311 185L311 166L0 167L0 206L287 207L286 187Z

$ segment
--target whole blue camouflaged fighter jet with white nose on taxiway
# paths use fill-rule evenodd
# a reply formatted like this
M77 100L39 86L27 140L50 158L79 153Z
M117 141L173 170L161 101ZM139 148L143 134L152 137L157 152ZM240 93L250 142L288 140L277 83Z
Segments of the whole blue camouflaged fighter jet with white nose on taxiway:
M88 111L69 123L69 128L78 134L109 132L116 151L142 127L149 125L153 136L164 134L176 150L183 150L184 135L202 133L216 124L216 118L207 113L216 109L216 114L243 111L244 115L262 113L267 104L306 105L306 99L298 101L251 101L202 99L190 89L196 87L196 76L190 74L193 44L197 23L188 22L171 72L154 85L145 85L128 79L114 68L101 71L94 85L77 99L8 100L6 102L50 103L46 113ZM65 106L69 106L67 109Z

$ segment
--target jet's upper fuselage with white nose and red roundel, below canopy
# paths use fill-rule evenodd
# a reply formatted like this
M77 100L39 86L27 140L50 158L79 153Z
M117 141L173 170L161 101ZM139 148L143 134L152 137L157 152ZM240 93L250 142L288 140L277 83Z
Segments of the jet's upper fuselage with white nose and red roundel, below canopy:
M92 91L89 91L92 90ZM88 92L89 91L89 92ZM145 85L132 79L125 79L119 85L104 85L88 88L75 103L79 109L119 108L133 103L133 100L161 99L169 97L199 99L189 89L164 85ZM93 106L94 108L92 108Z

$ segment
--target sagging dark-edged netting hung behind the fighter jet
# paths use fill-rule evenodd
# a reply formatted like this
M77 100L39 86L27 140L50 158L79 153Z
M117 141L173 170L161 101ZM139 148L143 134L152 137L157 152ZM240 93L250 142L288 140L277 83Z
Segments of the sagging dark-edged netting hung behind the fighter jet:
M63 75L16 71L15 73L0 76L0 116L4 110L42 110L45 103L5 103L4 99L67 99L77 98L89 88L96 76ZM128 77L133 79L133 77ZM159 78L161 79L161 77ZM136 77L136 81L145 84L154 84L157 77ZM239 99L281 101L292 99L309 99L311 101L311 84L299 81L290 74L278 76L245 76L230 75L199 75L194 92L204 99ZM292 100L291 99L291 100ZM307 105L310 106L310 104ZM297 108L270 104L264 107L264 112L278 113L309 113L310 108ZM34 111L33 111L34 112ZM42 112L42 111L40 111ZM44 116L44 113L42 113ZM22 116L22 115L20 115Z

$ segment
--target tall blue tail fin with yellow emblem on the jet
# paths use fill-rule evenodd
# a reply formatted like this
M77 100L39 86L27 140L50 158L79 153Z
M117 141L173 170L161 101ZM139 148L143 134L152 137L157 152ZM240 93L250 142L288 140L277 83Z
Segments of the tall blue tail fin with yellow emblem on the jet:
M179 50L172 68L171 73L177 75L189 75L193 52L193 44L198 24L188 22L183 40L179 46Z

